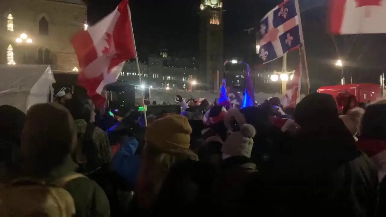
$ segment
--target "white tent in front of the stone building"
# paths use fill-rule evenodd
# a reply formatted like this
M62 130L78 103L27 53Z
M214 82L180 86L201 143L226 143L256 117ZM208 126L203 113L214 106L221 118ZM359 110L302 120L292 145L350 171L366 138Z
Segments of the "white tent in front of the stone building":
M52 83L55 78L49 65L0 65L0 105L26 112L52 99Z

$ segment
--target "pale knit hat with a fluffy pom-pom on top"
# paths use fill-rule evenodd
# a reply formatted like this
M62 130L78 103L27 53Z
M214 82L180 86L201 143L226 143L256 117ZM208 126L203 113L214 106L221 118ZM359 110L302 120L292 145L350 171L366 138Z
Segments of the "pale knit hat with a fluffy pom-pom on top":
M222 145L221 151L229 156L251 157L253 147L253 137L256 134L255 128L251 124L243 124L239 132L230 134Z

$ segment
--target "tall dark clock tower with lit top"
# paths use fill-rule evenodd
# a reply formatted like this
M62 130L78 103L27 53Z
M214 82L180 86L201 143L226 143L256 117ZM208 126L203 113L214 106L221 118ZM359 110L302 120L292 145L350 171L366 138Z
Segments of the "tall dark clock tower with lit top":
M217 90L223 69L223 0L201 0L200 5L200 83ZM217 79L218 78L218 79Z

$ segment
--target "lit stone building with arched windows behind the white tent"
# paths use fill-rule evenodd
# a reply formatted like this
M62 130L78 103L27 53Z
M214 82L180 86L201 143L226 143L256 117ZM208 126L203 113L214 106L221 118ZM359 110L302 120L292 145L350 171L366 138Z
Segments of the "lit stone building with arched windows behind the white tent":
M76 72L71 36L85 28L81 0L0 1L0 64L51 64Z

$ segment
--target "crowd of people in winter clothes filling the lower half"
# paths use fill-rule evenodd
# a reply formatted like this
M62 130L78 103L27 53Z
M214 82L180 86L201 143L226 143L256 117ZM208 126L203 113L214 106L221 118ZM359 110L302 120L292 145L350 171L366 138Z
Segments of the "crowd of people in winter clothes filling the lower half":
M182 114L146 126L56 96L0 106L0 216L386 215L386 100L340 115L314 93L286 114L178 96Z

